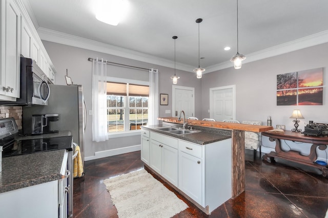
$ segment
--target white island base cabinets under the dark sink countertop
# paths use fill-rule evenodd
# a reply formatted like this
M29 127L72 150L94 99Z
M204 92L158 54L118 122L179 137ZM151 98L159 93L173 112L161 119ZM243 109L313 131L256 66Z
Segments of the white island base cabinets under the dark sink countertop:
M149 131L147 139L141 136L141 160L201 210L209 214L232 197L231 138L199 145Z

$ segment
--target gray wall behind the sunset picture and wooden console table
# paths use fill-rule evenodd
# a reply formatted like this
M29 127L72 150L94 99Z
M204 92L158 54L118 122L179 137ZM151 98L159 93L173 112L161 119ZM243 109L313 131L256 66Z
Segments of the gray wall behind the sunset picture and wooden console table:
M276 82L277 74L289 73L323 67L323 105L321 106L277 106L276 105ZM300 120L300 128L309 121L328 123L327 115L327 75L328 67L328 44L313 46L294 52L265 58L260 61L243 64L241 69L219 70L204 74L201 79L202 117L209 116L210 108L209 89L220 86L236 85L236 119L259 120L267 125L267 117L272 118L272 125L285 125L286 130L293 128L293 120L289 118L293 109L300 109L304 120ZM310 145L300 145L288 142L290 147L302 153L309 154ZM273 147L273 143L263 137L264 146ZM288 146L285 146L289 150ZM273 149L262 150L269 152ZM326 154L319 152L324 160Z

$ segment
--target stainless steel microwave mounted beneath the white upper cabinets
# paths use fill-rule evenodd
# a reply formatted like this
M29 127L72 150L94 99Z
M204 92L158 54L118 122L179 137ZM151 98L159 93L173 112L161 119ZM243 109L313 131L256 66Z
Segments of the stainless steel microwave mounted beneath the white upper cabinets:
M31 58L20 57L20 97L0 105L48 105L49 96L47 75Z

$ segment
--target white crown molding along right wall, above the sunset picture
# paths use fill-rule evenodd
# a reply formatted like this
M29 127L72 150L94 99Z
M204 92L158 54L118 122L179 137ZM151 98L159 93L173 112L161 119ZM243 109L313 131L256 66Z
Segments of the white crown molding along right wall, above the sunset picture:
M303 48L308 48L311 46L316 46L324 43L328 43L328 30L313 35L309 35L303 38L299 38L294 41L284 43L278 46L274 46L268 49L263 49L261 51L247 54L245 55L247 58L242 62L243 64L255 62L255 61L262 60L264 58L273 57L280 54L285 54L292 51L296 51L296 50L300 50ZM209 66L206 68L206 70L208 71L207 73L210 73L230 67L233 67L233 63L227 61L217 65Z

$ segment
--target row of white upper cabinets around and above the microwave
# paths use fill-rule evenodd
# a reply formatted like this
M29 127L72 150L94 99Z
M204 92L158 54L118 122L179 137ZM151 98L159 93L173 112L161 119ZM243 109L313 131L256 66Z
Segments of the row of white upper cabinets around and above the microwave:
M55 68L20 0L0 1L0 100L16 101L20 55L32 58L54 83Z

